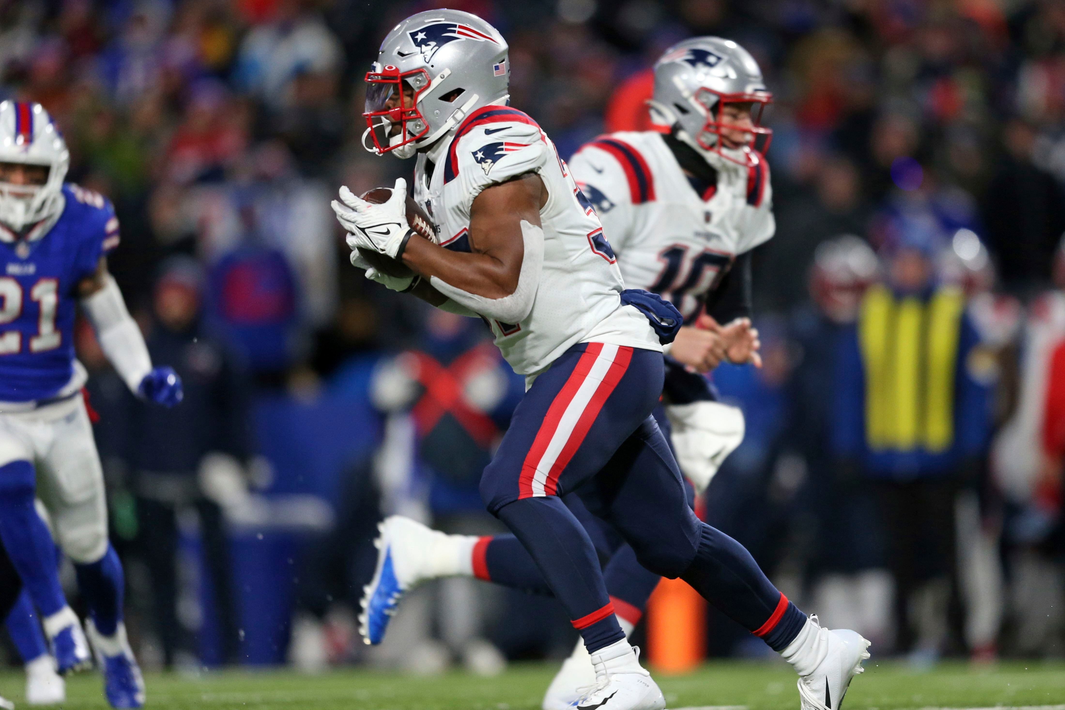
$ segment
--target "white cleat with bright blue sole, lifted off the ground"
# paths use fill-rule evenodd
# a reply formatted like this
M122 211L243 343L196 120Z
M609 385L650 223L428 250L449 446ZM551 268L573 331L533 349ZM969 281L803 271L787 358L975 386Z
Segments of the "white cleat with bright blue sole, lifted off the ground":
M403 595L423 579L441 576L438 558L448 535L400 515L384 518L374 541L377 567L374 578L362 588L359 633L366 644L384 640L389 621Z

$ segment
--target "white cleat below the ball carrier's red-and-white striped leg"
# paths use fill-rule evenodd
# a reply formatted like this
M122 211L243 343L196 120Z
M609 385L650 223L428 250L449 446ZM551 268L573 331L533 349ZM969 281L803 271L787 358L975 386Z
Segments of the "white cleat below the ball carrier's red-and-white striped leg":
M624 639L592 655L595 684L581 689L576 710L665 710L658 684L640 665L640 651Z

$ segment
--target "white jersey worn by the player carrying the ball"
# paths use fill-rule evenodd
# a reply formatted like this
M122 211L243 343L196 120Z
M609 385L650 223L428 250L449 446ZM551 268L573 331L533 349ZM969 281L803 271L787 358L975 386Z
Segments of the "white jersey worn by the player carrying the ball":
M646 317L621 304L621 270L594 210L554 144L521 111L489 105L471 113L452 137L419 156L413 197L436 224L442 246L470 251L474 199L486 187L524 172L537 172L547 187L547 202L540 210L543 268L524 320L486 318L503 357L515 373L532 375L577 343L660 351Z

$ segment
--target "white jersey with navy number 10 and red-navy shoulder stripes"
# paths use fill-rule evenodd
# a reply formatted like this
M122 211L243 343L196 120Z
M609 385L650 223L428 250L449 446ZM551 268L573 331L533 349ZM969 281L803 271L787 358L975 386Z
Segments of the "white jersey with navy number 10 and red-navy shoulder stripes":
M772 237L769 165L737 165L711 154L716 187L695 193L662 136L621 132L570 159L621 266L625 286L660 294L688 321L738 255Z

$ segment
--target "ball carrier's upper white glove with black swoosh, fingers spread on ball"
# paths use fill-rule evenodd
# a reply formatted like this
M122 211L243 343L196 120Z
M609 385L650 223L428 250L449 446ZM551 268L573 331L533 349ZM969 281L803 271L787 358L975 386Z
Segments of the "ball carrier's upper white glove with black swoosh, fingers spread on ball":
M407 181L398 178L392 197L381 204L356 197L347 187L340 188L340 199L330 204L341 227L348 232L347 246L398 259L414 232L407 224Z

